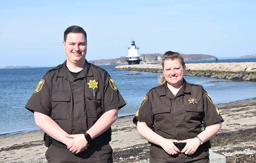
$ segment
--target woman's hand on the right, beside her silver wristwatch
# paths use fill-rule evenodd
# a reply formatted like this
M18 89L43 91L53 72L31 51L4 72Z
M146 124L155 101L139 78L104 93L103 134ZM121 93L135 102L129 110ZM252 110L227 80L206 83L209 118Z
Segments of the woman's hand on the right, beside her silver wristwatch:
M186 139L179 142L186 143L186 146L181 151L181 153L185 153L186 155L191 155L195 153L197 148L200 146L200 142L197 140L197 138Z

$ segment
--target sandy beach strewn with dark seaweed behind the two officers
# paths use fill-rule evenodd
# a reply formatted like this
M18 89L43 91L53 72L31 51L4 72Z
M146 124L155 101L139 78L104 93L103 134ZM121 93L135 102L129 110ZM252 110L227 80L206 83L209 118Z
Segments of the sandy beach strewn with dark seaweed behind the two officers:
M227 162L255 161L256 99L217 105L225 122L212 140L211 150L227 156ZM112 125L114 162L147 162L149 144L136 131L133 116ZM43 131L0 137L0 162L47 162Z

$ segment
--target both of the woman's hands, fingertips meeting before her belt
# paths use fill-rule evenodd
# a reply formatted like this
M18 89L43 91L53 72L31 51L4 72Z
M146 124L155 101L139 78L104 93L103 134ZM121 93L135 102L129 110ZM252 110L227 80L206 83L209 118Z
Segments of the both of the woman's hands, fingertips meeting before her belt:
M186 146L180 151L173 143L186 143ZM184 153L186 155L191 155L195 153L197 148L200 146L200 142L196 139L186 139L182 141L165 139L161 142L160 146L166 151L169 155L174 155L178 153Z

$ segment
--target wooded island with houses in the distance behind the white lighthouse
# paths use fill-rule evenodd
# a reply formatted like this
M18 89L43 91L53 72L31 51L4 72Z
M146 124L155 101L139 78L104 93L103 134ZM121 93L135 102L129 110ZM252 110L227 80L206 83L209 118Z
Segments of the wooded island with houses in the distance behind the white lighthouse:
M181 55L185 61L216 59L215 56L206 55L206 54L181 54ZM152 63L152 62L161 62L163 54L161 54L161 53L140 54L140 56L142 56L142 58L147 63ZM120 58L115 58L115 59L111 58L111 59L91 60L89 62L91 62L95 65L127 64L127 62L125 61L125 57L120 57Z

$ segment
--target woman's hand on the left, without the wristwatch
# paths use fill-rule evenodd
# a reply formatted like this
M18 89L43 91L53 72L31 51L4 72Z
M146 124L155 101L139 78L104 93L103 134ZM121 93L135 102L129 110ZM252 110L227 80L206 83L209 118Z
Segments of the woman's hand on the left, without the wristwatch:
M180 150L173 143L180 143L180 141L163 138L163 141L161 141L159 144L169 155L180 153Z

